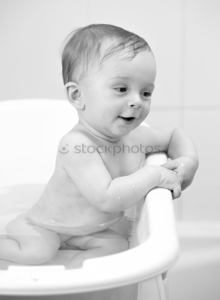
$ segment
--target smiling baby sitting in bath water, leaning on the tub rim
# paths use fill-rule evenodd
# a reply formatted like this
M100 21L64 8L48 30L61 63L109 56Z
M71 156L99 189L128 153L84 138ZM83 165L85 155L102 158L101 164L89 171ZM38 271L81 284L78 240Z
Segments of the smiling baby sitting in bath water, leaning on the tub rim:
M196 148L183 130L140 125L156 76L143 38L107 24L79 28L63 49L62 67L79 122L60 140L55 171L38 202L8 223L2 259L39 264L62 245L82 250L68 266L77 267L84 259L127 250L128 240L109 227L154 187L178 198L198 167ZM144 166L147 146L159 147L171 161Z

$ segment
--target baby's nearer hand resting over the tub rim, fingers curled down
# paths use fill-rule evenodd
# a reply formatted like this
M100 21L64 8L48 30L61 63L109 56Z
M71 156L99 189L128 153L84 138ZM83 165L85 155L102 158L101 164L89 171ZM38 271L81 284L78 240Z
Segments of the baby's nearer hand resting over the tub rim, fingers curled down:
M181 195L181 185L175 172L167 170L161 166L154 166L159 173L159 183L157 187L164 187L171 190L173 199Z

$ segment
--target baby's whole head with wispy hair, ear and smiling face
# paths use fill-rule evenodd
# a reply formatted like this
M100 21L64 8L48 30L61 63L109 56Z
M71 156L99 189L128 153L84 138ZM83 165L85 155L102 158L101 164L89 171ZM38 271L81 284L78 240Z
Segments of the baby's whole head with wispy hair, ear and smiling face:
M156 75L147 42L108 24L71 33L62 53L68 101L80 122L96 135L127 135L149 113Z

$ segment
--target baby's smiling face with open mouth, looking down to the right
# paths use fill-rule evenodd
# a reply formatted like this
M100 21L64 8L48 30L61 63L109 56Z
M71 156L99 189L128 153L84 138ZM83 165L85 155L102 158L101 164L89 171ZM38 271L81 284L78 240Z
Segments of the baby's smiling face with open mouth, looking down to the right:
M132 60L125 54L104 61L101 70L93 68L81 87L84 122L107 137L122 137L140 125L150 110L156 76L151 52L141 51Z

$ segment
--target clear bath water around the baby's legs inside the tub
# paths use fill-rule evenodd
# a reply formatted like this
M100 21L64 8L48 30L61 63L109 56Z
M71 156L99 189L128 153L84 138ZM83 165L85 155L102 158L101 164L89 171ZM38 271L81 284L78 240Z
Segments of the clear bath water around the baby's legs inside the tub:
M14 220L18 215L25 214L29 208L38 201L44 187L44 184L22 184L0 188L0 238L7 238L6 228L8 223ZM138 223L141 205L142 201L140 201L138 205L127 209L124 216L118 222L110 226L110 229L119 233L129 241L129 248L135 247L138 244L136 224ZM17 232L16 234L24 235L24 232ZM65 265L68 267L72 257L81 251L85 250L77 249L76 247L62 247L61 243L61 247L52 259L38 265ZM29 264L16 263L0 258L0 269L7 269L9 265ZM33 265L33 263L31 265Z

